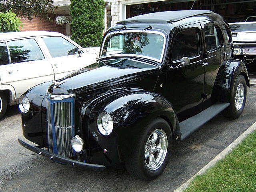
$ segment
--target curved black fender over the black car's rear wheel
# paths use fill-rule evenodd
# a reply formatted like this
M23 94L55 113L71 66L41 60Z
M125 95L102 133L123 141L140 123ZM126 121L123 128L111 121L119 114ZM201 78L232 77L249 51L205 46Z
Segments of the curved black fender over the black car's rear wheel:
M247 68L242 60L230 58L226 64L221 83L221 101L230 102L231 88L238 75L243 75L246 84L250 87L250 80Z

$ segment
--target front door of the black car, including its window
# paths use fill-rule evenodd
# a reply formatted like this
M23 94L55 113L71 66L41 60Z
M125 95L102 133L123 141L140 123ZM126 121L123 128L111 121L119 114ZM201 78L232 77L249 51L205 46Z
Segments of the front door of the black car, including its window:
M204 57L200 24L176 29L171 46L166 98L174 107L179 121L182 121L202 111ZM188 57L190 63L181 65L182 57Z

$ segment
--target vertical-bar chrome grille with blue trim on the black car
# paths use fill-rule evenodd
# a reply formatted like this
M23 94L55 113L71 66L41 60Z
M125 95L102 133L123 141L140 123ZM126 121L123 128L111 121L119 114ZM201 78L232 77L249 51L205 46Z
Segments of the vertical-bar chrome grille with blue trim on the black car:
M54 152L54 139L56 140L56 148L58 154L64 157L73 156L71 146L72 120L71 120L71 102L55 102L50 104L48 101L48 150ZM53 117L51 117L53 110ZM52 120L54 121L52 123ZM55 132L55 138L53 130Z

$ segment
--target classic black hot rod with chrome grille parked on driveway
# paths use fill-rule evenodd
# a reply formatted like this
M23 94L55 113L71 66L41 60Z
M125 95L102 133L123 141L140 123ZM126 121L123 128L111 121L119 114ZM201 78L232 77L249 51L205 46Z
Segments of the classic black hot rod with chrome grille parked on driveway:
M98 62L20 97L20 144L59 163L103 170L124 163L152 180L173 141L222 112L238 118L248 72L231 57L228 24L207 10L157 12L118 22Z

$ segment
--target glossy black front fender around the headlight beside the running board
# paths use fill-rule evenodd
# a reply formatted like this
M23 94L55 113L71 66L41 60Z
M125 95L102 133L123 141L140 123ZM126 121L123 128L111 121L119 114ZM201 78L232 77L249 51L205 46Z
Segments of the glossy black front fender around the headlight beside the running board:
M114 129L109 136L103 136L98 131L96 121L100 112L107 112L112 116ZM138 132L156 117L164 118L175 135L178 120L172 105L156 93L144 90L127 92L126 90L98 102L90 113L89 134L92 135L93 132L97 134L97 142L92 137L90 139L90 143L93 143L91 145L92 162L100 163L97 161L98 157L94 158L96 153L93 151L97 148L101 153L103 149L108 151L103 155L107 156L110 164L124 162L126 154L131 150L131 142L134 142Z

